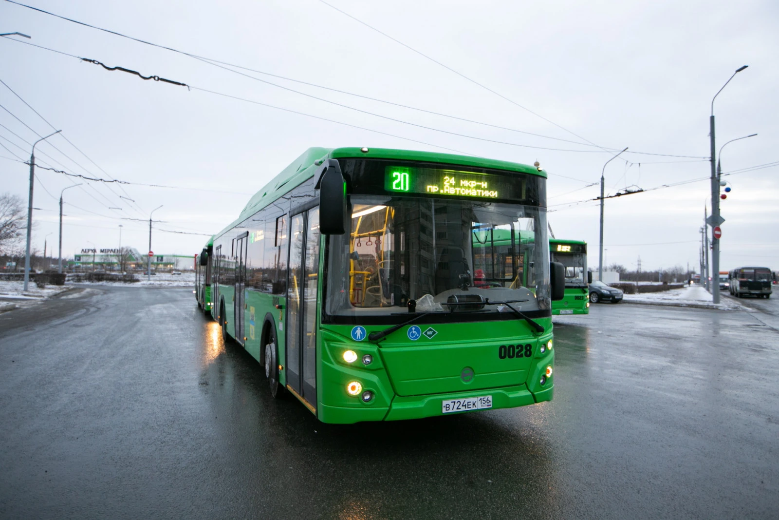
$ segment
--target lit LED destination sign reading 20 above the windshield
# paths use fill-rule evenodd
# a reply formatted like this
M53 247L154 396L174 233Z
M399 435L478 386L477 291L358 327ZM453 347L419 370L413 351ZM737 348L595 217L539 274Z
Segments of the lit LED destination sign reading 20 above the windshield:
M509 175L399 166L387 166L384 174L384 189L395 193L476 199L523 199L525 196L525 179Z

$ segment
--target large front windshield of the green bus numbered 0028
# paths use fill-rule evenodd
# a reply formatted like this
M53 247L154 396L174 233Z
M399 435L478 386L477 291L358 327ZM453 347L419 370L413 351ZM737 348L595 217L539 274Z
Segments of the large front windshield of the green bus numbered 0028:
M548 316L545 208L404 196L351 203L351 229L328 243L325 310L338 323L400 323L409 306L457 317L507 312L486 299ZM501 233L515 239L488 247Z

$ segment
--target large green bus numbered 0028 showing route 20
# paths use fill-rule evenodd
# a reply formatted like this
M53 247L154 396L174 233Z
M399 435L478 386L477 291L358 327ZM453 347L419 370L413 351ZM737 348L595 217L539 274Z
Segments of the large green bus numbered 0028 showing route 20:
M541 168L311 148L201 261L224 338L274 397L325 423L414 419L552 399L565 281L546 229ZM502 232L520 239L495 271L483 245Z

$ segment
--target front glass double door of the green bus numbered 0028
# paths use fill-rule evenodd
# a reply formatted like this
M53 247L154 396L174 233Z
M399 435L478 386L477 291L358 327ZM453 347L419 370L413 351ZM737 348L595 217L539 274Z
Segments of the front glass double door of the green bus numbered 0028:
M287 387L316 412L319 207L293 215L287 280Z

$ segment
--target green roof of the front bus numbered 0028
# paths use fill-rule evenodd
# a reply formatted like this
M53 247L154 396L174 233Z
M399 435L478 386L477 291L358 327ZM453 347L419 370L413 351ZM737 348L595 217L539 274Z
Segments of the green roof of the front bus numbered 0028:
M280 196L287 193L290 189L294 188L310 179L319 168L319 161L325 159L347 159L347 158L373 158L373 159L397 159L399 161L422 161L422 162L439 162L446 164L460 164L462 166L475 166L478 168L495 168L499 170L506 170L509 172L519 172L530 175L538 175L540 177L547 177L545 170L538 169L535 166L529 166L527 164L520 164L509 161L498 161L495 159L484 159L481 157L472 157L467 155L454 155L454 154L438 154L435 152L422 152L418 150L394 150L391 148L368 148L367 152L363 152L362 148L358 147L346 147L346 148L319 148L312 147L305 150L300 157L284 168L278 175L270 179L262 189L249 199L246 206L241 210L241 214L238 218L225 226L216 235L213 235L209 244L213 244L213 238L222 235L224 232L234 228L236 225L245 221L246 218L255 214L256 211L263 209L268 204L277 200ZM319 164L315 164L315 163Z

